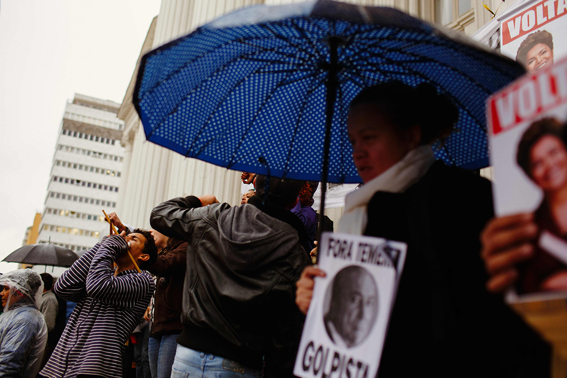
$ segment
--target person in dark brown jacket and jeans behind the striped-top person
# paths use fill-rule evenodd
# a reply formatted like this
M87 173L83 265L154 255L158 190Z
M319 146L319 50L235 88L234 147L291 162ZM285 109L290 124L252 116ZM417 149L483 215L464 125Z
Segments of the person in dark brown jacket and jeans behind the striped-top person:
M175 359L177 336L181 325L181 298L187 266L187 242L151 230L155 244L163 248L158 261L147 271L157 276L154 305L151 312L151 333L148 346L152 378L169 378Z

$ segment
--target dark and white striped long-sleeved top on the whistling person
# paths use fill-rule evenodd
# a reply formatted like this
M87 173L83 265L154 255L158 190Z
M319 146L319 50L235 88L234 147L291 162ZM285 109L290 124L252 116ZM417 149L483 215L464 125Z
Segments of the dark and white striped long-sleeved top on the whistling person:
M105 237L58 279L53 291L77 306L41 375L122 376L125 342L141 321L155 287L145 271L125 270L114 277L112 263L127 249L122 237Z

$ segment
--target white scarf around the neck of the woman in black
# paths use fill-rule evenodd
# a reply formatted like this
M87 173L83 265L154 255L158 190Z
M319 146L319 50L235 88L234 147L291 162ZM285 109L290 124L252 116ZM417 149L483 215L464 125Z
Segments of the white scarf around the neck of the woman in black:
M362 235L368 216L366 205L376 192L403 193L425 175L435 162L430 145L409 151L382 175L366 182L361 188L346 195L345 213L338 222L338 232Z

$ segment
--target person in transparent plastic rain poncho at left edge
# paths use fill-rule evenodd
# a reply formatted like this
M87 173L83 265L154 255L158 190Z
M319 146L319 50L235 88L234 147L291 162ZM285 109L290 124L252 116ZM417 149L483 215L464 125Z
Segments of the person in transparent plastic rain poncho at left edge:
M0 376L35 377L47 341L47 326L37 309L43 282L35 271L18 269L0 275L0 285Z

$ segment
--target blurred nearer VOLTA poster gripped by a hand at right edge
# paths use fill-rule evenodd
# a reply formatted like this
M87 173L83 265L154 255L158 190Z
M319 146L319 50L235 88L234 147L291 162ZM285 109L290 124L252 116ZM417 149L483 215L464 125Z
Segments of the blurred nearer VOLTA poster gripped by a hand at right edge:
M567 58L516 80L487 108L496 214L534 213L540 229L507 298L567 297L554 286L567 279Z

